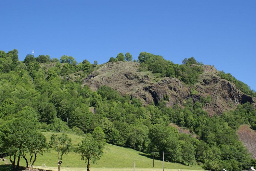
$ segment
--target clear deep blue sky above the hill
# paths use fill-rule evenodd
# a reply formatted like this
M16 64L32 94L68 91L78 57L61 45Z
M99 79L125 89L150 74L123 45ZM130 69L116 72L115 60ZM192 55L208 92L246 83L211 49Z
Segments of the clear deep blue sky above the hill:
M256 90L256 0L1 0L0 50L105 63L193 56Z

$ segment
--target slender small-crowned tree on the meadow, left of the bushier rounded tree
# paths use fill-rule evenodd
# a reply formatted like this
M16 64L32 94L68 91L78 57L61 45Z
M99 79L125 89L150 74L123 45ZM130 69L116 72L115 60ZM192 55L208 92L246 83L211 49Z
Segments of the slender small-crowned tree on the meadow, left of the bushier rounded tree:
M62 156L64 154L67 154L69 152L69 150L71 149L71 139L68 138L67 134L64 134L64 133L61 136L53 134L51 136L51 140L50 140L49 144L58 153L57 164L58 164L58 170L60 171L61 163L62 163Z

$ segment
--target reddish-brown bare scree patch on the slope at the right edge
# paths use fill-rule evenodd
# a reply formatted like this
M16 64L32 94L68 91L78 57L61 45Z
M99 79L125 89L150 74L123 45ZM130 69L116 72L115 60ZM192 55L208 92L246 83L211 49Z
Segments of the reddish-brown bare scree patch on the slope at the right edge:
M239 140L242 141L252 158L256 159L256 131L247 125L242 125L238 130Z

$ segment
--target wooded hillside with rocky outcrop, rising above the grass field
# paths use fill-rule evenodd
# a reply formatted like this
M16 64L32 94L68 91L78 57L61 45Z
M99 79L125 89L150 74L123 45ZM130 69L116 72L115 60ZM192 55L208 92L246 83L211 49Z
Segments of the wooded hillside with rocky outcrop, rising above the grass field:
M256 163L236 134L243 124L256 130L256 92L193 57L179 65L148 52L128 62L119 53L98 65L77 64L65 55L60 61L27 55L21 62L11 58L17 50L1 54L0 154L10 156L13 168L34 154L34 145L41 152L47 148L49 135L39 130L66 129L87 134L88 144L99 145L95 150L106 141L121 151L129 147L158 158L164 152L165 161L209 170L242 170ZM70 155L67 167L79 167L77 154ZM45 156L53 162L47 165L56 164L53 154Z

